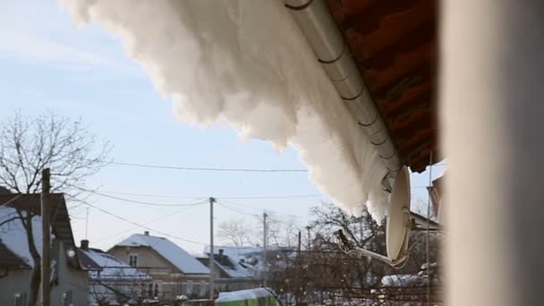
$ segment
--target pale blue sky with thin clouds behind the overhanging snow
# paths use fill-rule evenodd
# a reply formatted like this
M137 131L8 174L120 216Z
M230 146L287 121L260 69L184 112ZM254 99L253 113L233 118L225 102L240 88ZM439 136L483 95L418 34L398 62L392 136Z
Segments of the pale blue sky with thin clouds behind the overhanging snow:
M171 102L161 98L140 66L124 55L118 39L97 25L74 28L69 13L55 0L0 2L0 67L0 120L17 111L22 115L51 111L73 120L81 118L98 140L113 144L110 157L115 162L304 169L293 149L280 152L264 141L242 141L236 131L219 125L203 130L176 120ZM433 166L432 177L445 167ZM412 203L427 203L424 186L429 183L429 172L411 177ZM277 217L294 217L303 226L311 220L310 208L327 201L303 172L205 172L109 165L89 178L87 186L99 187L110 196L154 203L204 203L215 197L219 202L214 208L216 228L232 219L255 228L265 210ZM308 197L241 199L292 195ZM209 241L209 205L205 203L149 207L92 195L89 204L95 208L89 208L88 215L87 207L72 210L72 229L76 242L87 234L91 247L107 250L128 235L145 230L106 215L104 210L145 224L151 234L190 240L170 238L193 253L201 252Z

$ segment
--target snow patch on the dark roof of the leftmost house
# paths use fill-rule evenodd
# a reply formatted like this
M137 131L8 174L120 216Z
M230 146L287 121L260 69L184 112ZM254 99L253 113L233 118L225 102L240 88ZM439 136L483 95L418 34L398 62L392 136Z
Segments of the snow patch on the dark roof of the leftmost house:
M0 223L16 216L15 208L0 206ZM41 217L39 216L32 218L32 234L34 235L36 249L41 256ZM26 230L22 226L20 219L0 225L0 241L30 267L34 267L34 260L30 255L29 243L27 242Z

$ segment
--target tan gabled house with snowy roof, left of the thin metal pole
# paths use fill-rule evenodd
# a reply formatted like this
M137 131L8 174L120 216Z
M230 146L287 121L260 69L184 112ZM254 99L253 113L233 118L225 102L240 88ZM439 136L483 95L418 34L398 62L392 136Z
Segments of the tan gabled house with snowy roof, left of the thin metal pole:
M107 252L151 276L153 295L161 300L208 296L209 269L166 238L132 234Z

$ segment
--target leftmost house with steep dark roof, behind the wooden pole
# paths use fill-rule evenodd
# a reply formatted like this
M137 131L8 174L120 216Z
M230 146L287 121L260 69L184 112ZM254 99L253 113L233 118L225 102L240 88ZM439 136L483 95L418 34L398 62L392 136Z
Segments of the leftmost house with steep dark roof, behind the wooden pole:
M75 251L70 217L64 195L49 196L51 222L51 304L86 305L89 293L87 271ZM21 217L28 226L23 226ZM32 229L30 242L27 230ZM41 258L39 194L0 194L0 305L30 302L30 279L34 268L30 245ZM32 243L32 244L30 244ZM38 293L40 296L40 293Z

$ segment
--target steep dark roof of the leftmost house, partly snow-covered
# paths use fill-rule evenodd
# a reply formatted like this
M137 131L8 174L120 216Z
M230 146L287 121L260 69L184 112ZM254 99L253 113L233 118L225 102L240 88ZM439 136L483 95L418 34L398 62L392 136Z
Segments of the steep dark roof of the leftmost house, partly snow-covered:
M64 201L64 194L51 193L49 195L49 202L52 214L52 237L64 242L64 249L66 251L75 251L72 225L70 225L70 217L68 216L68 209ZM0 223L12 217L17 217L17 209L23 214L31 212L36 215L32 218L32 234L34 235L34 243L38 249L38 253L41 255L40 194L0 194ZM0 226L0 240L10 251L24 260L27 265L30 267L34 266L34 261L30 256L26 230L22 226L20 219L14 219ZM69 260L69 262L75 268L81 268L77 252L74 255L74 259Z

